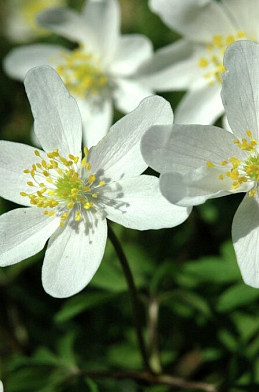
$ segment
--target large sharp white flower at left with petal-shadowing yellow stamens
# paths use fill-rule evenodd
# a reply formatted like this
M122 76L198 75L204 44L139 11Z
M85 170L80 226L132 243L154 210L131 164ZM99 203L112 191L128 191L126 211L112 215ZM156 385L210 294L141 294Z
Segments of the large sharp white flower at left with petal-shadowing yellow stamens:
M44 151L0 142L0 195L25 206L0 217L0 265L34 255L50 238L43 286L54 297L68 297L99 267L106 218L138 230L173 227L187 218L190 209L170 204L157 177L140 175L147 168L142 135L152 125L171 124L172 112L163 98L147 98L82 158L80 113L56 72L35 68L25 87Z

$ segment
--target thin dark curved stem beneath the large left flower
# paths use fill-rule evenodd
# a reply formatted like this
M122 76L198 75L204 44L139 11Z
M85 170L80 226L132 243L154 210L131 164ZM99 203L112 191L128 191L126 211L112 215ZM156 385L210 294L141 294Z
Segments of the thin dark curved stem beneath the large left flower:
M153 373L150 364L149 364L149 359L147 355L147 350L144 342L144 338L142 335L142 328L140 324L140 307L139 307L139 300L138 300L138 294L137 294L137 289L136 285L134 283L133 275L129 267L129 263L127 260L127 257L121 247L121 244L116 237L116 234L114 233L113 229L109 225L109 239L117 253L118 259L121 263L127 284L128 284L128 289L129 289L129 294L130 294L130 299L131 299L131 304L132 304L132 312L133 312L133 321L134 321L134 326L136 330L136 336L137 336L137 341L139 345L139 350L141 353L142 357L142 362L144 369L150 373Z

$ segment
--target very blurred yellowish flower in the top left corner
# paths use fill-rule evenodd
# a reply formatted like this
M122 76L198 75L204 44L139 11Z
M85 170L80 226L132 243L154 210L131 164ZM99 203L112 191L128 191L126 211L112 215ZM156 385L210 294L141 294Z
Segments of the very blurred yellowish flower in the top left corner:
M26 42L49 34L37 24L37 14L49 7L65 5L66 0L7 0L4 4L5 35L14 42Z

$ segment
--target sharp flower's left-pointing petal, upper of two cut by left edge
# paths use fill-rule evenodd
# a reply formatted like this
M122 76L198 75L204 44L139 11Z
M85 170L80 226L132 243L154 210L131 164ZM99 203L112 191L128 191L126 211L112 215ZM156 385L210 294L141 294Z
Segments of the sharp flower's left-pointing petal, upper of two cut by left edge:
M30 180L23 171L36 163L35 148L25 144L0 141L0 196L14 203L31 206L29 199L20 192L31 193ZM41 152L44 158L44 152Z

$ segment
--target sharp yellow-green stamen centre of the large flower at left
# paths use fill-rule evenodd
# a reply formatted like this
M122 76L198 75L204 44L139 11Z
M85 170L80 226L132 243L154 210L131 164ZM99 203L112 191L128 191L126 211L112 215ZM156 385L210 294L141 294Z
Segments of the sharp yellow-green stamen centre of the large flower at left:
M30 204L43 208L44 214L60 217L60 226L64 226L70 213L80 221L86 210L96 207L99 188L105 185L104 180L97 180L91 173L91 165L87 161L87 148L84 148L85 157L78 164L79 157L69 155L69 159L62 157L58 150L47 154L44 160L38 150L34 151L39 162L25 169L24 173L30 175L27 185L32 187L32 193L21 192L21 196L28 197Z

